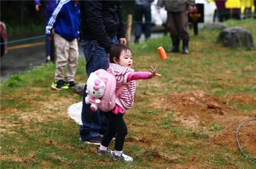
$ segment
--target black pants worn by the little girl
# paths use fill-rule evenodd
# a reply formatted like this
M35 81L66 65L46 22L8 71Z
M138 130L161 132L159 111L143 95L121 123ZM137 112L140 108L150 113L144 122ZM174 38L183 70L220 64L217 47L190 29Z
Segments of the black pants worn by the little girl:
M123 114L120 112L118 115L114 115L112 111L106 112L106 116L110 117L108 130L105 132L101 145L108 147L113 136L116 134L115 150L122 151L125 136L127 135L127 127L123 120Z

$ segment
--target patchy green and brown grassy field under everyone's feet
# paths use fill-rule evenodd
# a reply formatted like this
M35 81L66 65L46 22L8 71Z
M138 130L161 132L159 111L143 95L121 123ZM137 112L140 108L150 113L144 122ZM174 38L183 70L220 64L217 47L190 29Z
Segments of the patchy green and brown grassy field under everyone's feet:
M228 20L256 40L256 20ZM256 168L238 148L236 132L256 117L256 51L217 44L220 30L190 31L189 54L167 54L169 36L130 45L134 69L158 65L161 78L138 80L133 108L124 119L124 153L132 163L97 156L79 142L79 125L67 109L82 96L50 85L55 64L15 74L1 84L1 168ZM79 60L76 81L86 82ZM256 122L244 124L239 141L256 158ZM114 148L111 143L110 149Z

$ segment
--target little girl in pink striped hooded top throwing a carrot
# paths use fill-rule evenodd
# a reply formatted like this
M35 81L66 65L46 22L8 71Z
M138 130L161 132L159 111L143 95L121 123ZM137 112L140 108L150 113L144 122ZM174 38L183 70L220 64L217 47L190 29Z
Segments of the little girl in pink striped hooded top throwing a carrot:
M131 49L123 44L116 44L110 50L110 66L108 72L116 77L116 91L126 85L116 98L116 105L112 111L106 112L110 116L108 130L105 132L100 147L97 149L98 155L113 155L115 161L133 161L133 158L123 153L124 139L127 134L127 127L123 120L125 112L132 108L137 79L151 79L154 76L161 76L157 73L157 65L154 69L151 66L150 72L134 72L133 55ZM108 149L112 137L116 134L115 152Z

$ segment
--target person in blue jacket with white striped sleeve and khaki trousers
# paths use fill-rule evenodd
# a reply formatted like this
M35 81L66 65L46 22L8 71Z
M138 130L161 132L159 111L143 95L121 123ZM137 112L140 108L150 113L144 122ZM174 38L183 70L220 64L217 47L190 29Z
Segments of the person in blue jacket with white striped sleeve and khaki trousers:
M46 26L46 36L52 40L54 28L54 44L57 53L55 78L52 88L56 90L74 87L78 62L80 13L78 0L61 0L52 13ZM68 65L65 79L64 68Z

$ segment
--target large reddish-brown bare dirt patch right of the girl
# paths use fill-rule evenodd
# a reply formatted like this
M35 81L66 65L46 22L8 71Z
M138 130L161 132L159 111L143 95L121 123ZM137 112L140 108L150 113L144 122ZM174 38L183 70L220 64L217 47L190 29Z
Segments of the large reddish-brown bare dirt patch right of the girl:
M255 104L256 96L249 94L234 94L224 97L244 105ZM159 98L157 98L159 100ZM166 98L160 98L153 103L154 107L165 107L175 115L175 126L201 128L211 137L213 144L225 146L227 149L238 150L236 132L238 126L248 119L254 119L256 112L249 117L234 106L228 105L222 99L208 95L203 91L170 93ZM240 144L244 151L256 158L256 121L251 121L241 127ZM211 130L219 130L214 135ZM199 133L195 133L199 134Z

